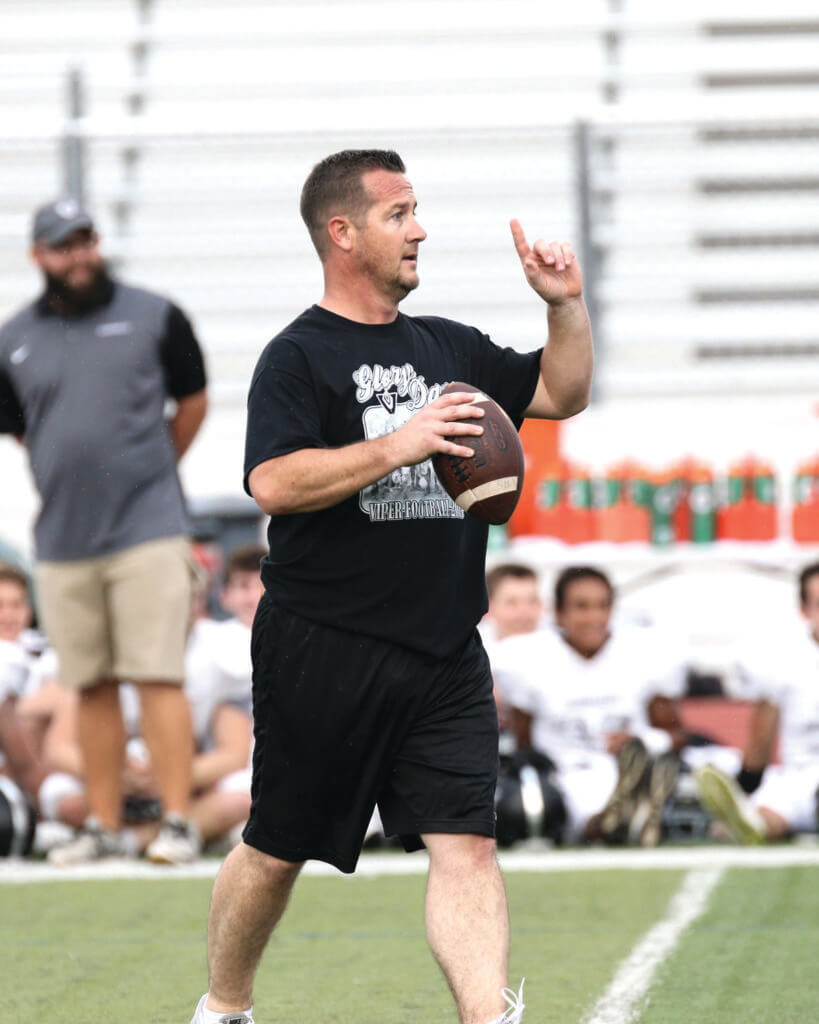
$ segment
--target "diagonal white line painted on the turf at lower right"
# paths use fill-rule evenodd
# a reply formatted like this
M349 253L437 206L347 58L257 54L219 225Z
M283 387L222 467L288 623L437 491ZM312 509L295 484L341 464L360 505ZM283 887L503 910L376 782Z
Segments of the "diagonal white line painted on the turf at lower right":
M669 912L620 964L584 1024L630 1024L636 1020L657 968L674 951L683 932L705 911L724 873L725 867L709 867L686 874Z

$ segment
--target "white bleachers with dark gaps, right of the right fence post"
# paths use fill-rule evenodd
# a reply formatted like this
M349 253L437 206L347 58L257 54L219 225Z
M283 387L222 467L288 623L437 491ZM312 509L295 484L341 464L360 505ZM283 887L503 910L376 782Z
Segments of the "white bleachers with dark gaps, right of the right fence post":
M611 197L598 233L609 390L810 393L815 6L631 0L616 33L620 127L599 180ZM640 105L654 126L622 123ZM662 111L678 125L662 128Z

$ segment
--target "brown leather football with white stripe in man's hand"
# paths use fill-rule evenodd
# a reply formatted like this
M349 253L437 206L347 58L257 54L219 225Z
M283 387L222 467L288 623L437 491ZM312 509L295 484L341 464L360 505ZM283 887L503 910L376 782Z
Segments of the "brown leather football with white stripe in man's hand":
M447 495L465 512L483 522L506 522L515 511L523 486L523 446L515 424L487 394L471 384L454 381L441 394L469 391L483 409L481 419L472 420L483 427L479 435L467 434L449 440L471 447L474 455L438 453L432 465Z

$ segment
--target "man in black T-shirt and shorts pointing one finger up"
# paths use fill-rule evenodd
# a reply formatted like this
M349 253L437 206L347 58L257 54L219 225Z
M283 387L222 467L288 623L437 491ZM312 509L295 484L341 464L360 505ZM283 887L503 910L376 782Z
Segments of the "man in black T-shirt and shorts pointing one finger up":
M512 232L549 304L549 343L501 349L398 304L426 232L400 158L345 151L313 168L302 216L325 294L265 348L245 483L271 516L253 635L253 806L217 879L210 992L193 1024L252 1022L253 976L302 863L354 870L374 805L430 858L427 934L463 1024L521 1020L494 854L498 719L476 624L487 528L446 496L437 452L480 433L463 380L519 425L588 401L581 279L568 245ZM522 988L522 986L521 986ZM504 1010L506 1005L507 1009Z

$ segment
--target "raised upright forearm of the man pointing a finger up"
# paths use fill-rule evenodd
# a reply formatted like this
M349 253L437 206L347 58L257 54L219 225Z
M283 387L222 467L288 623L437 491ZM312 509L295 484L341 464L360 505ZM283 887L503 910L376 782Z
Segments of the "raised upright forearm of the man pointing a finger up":
M541 377L562 417L579 413L589 403L593 369L592 328L583 296L550 303Z

